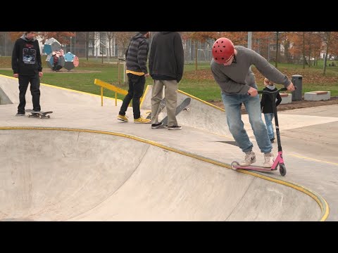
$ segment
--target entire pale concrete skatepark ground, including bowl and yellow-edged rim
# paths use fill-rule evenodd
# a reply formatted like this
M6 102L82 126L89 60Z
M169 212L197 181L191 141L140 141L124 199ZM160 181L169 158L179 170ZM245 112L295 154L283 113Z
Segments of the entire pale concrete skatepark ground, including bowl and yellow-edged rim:
M243 154L224 110L183 92L178 102L187 97L180 131L120 122L120 100L101 106L101 96L49 84L40 103L51 118L15 117L18 80L0 75L0 221L338 221L337 105L278 113L280 176L232 170ZM30 91L26 100L31 109Z

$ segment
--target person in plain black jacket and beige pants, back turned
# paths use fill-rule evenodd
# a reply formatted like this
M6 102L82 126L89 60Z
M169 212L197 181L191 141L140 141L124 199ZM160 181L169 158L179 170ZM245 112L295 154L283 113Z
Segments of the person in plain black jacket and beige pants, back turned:
M151 43L149 55L149 72L154 79L151 91L151 128L163 125L158 123L158 107L165 87L165 106L168 115L168 130L182 129L176 119L177 88L182 79L184 68L184 51L182 39L178 32L157 32Z

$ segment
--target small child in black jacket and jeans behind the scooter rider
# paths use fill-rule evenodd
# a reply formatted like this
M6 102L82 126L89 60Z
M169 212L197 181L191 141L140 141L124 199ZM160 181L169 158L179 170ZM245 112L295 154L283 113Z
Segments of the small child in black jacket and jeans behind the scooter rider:
M264 79L264 85L265 88L263 89L263 91L277 91L275 84L273 84L273 82L271 82L267 78ZM280 96L280 93L277 93L276 98L277 98L276 101L277 107L277 105L279 105L280 102L282 102L282 97ZM273 143L275 141L275 134L273 132L273 117L275 117L275 115L273 114L273 100L271 100L271 96L264 93L262 94L261 109L264 114L266 129L268 129L268 136L270 138L271 143Z

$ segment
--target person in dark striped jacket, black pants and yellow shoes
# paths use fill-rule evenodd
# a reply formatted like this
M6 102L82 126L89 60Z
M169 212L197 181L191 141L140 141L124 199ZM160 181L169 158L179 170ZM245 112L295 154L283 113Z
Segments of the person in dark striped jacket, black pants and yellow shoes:
M138 32L132 37L130 44L125 52L127 65L127 76L129 90L118 113L118 119L128 122L125 116L130 100L132 100L132 111L134 113L134 123L150 123L150 119L141 117L139 110L139 98L142 97L146 77L149 77L146 69L146 58L148 57L149 43L146 39L150 37L150 32Z

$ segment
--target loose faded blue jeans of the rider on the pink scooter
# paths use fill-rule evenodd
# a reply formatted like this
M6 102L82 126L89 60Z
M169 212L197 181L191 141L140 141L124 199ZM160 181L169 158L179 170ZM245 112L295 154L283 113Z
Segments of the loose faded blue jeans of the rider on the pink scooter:
M222 99L227 114L227 125L239 148L246 153L252 150L253 147L242 122L241 106L243 103L249 114L249 122L258 147L262 153L270 153L273 145L271 145L268 131L262 119L259 96L249 96L248 94L226 95L222 93Z

